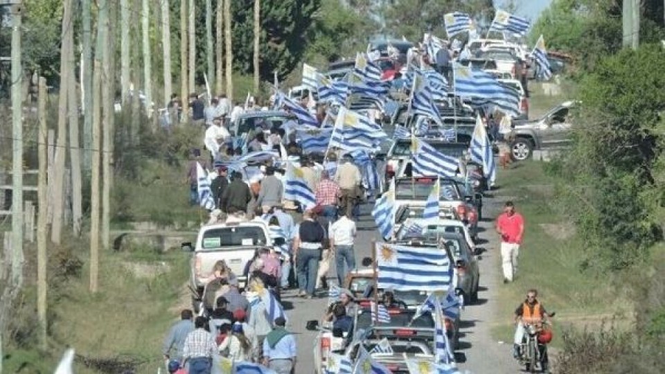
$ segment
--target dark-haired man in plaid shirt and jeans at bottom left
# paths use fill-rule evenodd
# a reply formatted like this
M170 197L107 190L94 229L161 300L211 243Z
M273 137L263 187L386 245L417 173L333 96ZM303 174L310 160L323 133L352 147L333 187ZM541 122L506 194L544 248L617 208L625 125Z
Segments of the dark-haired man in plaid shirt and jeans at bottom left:
M196 317L194 331L190 332L183 347L183 365L189 363L189 374L210 374L213 354L217 352L215 337L206 331L206 317Z

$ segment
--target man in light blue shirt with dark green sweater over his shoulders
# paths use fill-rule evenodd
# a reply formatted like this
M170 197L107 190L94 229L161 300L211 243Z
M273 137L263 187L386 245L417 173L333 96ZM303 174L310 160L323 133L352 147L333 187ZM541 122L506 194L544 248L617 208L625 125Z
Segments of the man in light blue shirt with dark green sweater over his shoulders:
M291 374L296 366L296 339L285 326L284 317L277 317L275 328L263 341L263 364L277 374Z

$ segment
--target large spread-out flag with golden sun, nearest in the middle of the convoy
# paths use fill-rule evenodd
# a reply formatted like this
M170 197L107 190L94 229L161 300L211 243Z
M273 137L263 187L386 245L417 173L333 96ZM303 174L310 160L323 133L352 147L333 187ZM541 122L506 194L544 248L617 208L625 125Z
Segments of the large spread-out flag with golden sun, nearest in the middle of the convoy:
M398 291L447 291L453 282L445 251L376 243L378 287Z

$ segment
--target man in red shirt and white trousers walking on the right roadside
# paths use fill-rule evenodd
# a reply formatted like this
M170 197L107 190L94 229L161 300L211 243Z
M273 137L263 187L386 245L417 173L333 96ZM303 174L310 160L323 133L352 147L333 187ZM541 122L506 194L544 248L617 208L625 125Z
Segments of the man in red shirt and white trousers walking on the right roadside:
M524 235L524 218L515 213L513 202L506 202L504 213L497 217L497 233L501 235L501 262L504 270L504 283L512 282L517 272L517 256Z

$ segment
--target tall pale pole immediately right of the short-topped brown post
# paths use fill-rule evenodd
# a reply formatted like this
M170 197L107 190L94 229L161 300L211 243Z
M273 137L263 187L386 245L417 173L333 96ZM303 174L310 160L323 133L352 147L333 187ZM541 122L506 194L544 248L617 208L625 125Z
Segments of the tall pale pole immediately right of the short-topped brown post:
M100 0L99 2L99 27L102 30L101 50L102 53L102 248L109 248L110 226L111 226L111 157L112 157L112 116L114 113L113 99L111 96L112 71L111 53L109 53L109 7L113 0ZM136 87L134 87L136 91ZM138 97L134 92L134 96Z

